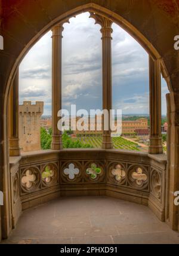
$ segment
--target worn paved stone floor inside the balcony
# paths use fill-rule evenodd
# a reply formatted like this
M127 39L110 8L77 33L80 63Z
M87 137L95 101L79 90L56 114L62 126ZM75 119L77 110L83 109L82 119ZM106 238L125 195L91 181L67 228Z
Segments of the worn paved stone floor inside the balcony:
M112 197L65 197L23 212L2 243L179 243L147 206Z

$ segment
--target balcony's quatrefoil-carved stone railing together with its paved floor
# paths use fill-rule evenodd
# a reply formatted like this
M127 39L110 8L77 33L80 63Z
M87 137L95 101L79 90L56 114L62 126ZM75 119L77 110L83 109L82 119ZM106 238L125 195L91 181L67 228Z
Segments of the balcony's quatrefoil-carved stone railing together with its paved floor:
M161 232L158 241L164 243L167 237L177 241L176 233L161 222L166 212L165 155L35 151L10 157L10 173L13 227L17 227L5 243L47 242L46 235L39 238L44 233L57 243L82 243L89 236L92 243L96 236L97 243L100 239L120 243L127 237L126 242L150 243ZM140 235L136 238L135 233Z

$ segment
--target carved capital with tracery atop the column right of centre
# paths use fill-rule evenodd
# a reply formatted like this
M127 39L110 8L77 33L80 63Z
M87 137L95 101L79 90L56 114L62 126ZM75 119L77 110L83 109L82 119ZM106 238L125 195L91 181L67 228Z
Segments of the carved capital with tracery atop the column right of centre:
M107 19L104 16L101 16L99 14L90 12L90 18L95 20L95 24L99 24L101 26L101 33L103 36L111 37L111 34L113 32L112 29L112 23L113 21L110 19Z

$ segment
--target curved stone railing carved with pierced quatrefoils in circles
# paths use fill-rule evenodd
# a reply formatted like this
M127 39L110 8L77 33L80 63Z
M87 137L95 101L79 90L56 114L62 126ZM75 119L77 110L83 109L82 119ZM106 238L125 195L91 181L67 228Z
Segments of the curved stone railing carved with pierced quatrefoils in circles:
M60 196L107 195L149 205L165 220L165 156L118 150L36 151L10 163L14 225L21 209Z

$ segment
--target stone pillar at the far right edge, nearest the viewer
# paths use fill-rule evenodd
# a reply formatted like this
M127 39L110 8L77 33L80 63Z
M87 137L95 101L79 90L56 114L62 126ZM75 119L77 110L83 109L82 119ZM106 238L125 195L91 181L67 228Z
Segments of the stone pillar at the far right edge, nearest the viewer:
M167 159L168 159L168 222L172 229L179 230L179 207L175 205L175 191L179 190L179 92L168 93L167 99Z

